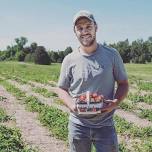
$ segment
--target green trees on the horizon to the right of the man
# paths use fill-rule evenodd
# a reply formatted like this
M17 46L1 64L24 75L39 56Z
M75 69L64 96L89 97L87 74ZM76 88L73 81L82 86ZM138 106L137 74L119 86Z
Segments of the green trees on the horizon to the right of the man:
M117 49L124 63L148 63L152 62L152 37L144 41L138 39L129 44L128 39L119 41L109 46Z

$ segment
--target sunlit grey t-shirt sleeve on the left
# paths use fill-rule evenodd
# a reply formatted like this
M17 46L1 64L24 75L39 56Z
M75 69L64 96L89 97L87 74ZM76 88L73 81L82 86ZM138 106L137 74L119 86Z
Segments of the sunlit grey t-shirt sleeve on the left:
M65 57L62 62L60 76L59 76L59 80L58 80L58 84L57 84L58 87L65 89L65 90L68 90L70 87L70 73L69 73L68 65L69 65L68 58Z

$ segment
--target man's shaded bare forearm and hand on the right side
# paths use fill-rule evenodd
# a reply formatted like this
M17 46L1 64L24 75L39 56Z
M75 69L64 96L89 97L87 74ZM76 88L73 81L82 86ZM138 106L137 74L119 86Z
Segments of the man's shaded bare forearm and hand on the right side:
M108 104L101 110L102 112L111 112L113 109L116 109L119 103L127 96L129 90L128 80L118 81L117 85L114 99L107 101Z

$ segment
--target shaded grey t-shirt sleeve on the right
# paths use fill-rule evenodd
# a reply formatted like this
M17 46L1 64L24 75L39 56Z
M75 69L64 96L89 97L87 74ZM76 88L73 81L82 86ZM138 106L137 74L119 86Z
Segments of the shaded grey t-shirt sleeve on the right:
M113 74L116 81L123 81L128 79L123 60L119 52L116 50L114 53Z

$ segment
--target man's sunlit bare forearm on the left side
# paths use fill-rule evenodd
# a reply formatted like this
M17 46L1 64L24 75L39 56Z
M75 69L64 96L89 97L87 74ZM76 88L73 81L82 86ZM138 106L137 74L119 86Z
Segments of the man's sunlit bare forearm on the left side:
M56 93L58 94L59 98L63 100L64 104L70 109L70 111L76 111L75 102L73 101L67 90L58 87L56 88Z

